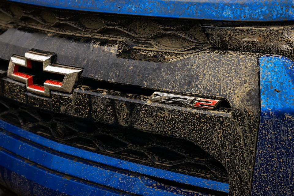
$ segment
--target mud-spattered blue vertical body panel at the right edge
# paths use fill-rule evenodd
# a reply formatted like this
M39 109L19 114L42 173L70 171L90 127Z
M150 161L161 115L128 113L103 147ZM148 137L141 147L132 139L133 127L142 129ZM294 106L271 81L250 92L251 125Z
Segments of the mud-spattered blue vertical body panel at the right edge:
M260 57L261 119L252 196L294 193L294 62Z

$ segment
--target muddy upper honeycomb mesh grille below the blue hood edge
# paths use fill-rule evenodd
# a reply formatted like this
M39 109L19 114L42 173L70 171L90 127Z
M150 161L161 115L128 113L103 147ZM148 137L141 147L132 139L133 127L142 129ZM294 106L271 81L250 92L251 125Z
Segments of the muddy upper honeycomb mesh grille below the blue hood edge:
M194 53L210 47L198 21L121 17L23 4L0 4L0 24L123 43L122 50ZM137 51L138 52L138 51Z

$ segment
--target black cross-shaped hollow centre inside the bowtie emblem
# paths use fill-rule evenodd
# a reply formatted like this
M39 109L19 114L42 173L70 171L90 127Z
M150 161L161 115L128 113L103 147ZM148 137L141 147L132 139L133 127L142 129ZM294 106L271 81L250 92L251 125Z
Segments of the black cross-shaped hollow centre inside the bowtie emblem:
M43 63L32 61L32 69L19 66L19 72L34 76L34 84L43 86L46 80L63 81L64 75L43 71Z

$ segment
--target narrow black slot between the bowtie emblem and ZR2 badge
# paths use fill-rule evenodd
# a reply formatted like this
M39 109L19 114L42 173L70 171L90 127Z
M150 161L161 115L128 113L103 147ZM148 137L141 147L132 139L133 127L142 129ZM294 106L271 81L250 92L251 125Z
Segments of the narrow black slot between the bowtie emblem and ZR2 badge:
M116 84L106 81L95 81L91 79L84 78L83 85L91 86L94 89L107 89L122 92L125 94L135 94L135 95L144 95L144 96L151 96L154 90L151 89L144 89L142 87L134 86L134 85L122 85Z

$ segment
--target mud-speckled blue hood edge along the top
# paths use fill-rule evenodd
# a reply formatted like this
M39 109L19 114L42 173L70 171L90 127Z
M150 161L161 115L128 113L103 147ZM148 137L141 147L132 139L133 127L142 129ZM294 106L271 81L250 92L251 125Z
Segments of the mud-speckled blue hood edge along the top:
M294 19L292 1L255 0L11 0L53 8L141 16L228 21Z

